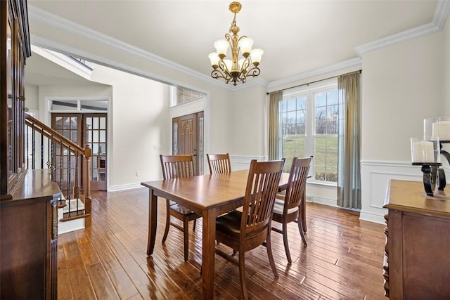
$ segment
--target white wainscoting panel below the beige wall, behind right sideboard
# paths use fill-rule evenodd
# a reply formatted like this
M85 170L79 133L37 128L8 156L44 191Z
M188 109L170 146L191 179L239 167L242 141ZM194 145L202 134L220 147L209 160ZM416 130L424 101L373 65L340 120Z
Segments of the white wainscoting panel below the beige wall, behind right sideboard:
M361 161L361 214L359 219L385 223L383 209L390 179L422 181L420 167L411 162Z

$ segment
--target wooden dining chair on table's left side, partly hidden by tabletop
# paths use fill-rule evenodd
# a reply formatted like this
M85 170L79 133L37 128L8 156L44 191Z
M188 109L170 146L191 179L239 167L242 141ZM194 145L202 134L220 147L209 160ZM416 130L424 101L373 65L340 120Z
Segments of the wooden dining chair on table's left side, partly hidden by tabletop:
M160 155L162 177L167 179L183 178L195 176L194 174L194 157L193 155ZM188 260L189 253L189 221L193 222L192 230L195 230L196 220L200 218L198 214L195 214L190 209L183 207L182 205L166 200L167 218L166 228L162 242L164 243L169 234L169 227L172 225L174 228L181 230L184 233L184 261ZM172 222L171 217L174 216L183 222L183 227L179 224Z

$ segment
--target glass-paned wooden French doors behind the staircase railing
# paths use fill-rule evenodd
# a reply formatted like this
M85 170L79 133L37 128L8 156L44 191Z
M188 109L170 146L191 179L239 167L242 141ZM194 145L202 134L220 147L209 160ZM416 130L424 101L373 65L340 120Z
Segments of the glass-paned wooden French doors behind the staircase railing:
M53 112L51 114L52 129L82 148L86 143L91 147L91 170L89 172L91 190L106 190L107 116L105 113ZM75 166L75 164L72 165ZM79 162L79 166L81 170L84 170L84 164Z

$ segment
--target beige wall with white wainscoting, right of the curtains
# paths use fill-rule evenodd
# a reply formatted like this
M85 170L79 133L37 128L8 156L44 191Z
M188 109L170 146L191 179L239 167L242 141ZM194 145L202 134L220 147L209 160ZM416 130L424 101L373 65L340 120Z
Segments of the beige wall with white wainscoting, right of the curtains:
M444 34L405 41L363 57L361 219L383 223L387 181L420 181L410 138L423 119L445 117Z

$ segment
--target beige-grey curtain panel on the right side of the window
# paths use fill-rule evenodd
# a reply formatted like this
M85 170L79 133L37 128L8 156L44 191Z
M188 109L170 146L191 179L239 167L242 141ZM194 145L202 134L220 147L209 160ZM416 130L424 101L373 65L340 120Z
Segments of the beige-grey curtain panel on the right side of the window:
M340 100L338 132L338 206L361 209L360 72L338 77Z

